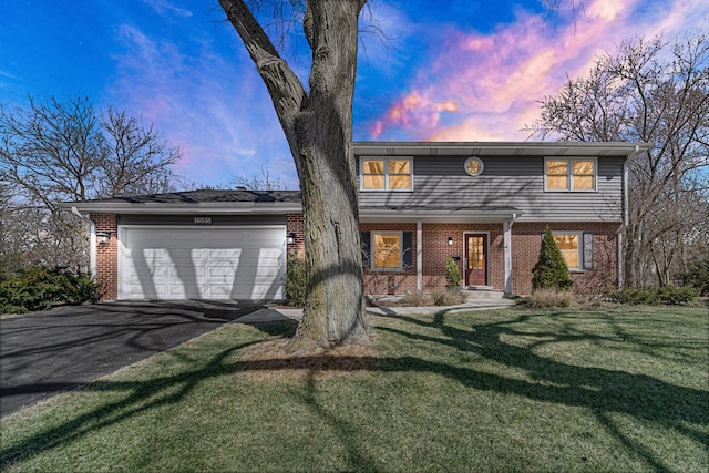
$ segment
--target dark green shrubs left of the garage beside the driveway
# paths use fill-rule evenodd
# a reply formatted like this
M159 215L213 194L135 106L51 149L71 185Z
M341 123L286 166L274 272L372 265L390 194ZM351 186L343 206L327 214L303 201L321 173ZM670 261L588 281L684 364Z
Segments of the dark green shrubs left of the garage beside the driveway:
M0 282L0 312L47 310L56 304L96 302L100 285L83 271L37 267Z

